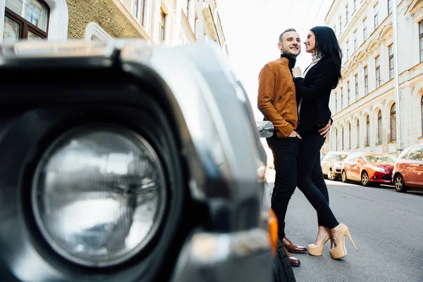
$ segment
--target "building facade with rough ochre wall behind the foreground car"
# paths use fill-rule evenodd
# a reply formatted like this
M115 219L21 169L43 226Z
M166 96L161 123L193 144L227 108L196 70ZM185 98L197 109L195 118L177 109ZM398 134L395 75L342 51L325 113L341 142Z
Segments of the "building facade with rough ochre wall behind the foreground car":
M1 42L142 38L214 40L228 52L215 0L0 0Z

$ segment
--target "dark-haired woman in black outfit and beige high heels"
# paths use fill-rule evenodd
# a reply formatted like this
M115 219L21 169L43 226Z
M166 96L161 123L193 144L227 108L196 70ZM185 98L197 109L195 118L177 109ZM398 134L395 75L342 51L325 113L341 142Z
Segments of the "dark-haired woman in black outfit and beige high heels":
M319 159L325 137L318 130L331 118L329 97L341 79L342 51L330 27L313 27L304 43L305 51L312 54L312 63L302 77L300 68L293 69L298 100L298 131L302 137L297 186L316 209L319 223L316 243L308 245L307 251L310 255L322 255L325 243L331 239L331 247L332 243L335 246L330 250L331 257L341 259L347 255L345 235L351 243L353 239L348 226L338 223L329 207L329 193Z

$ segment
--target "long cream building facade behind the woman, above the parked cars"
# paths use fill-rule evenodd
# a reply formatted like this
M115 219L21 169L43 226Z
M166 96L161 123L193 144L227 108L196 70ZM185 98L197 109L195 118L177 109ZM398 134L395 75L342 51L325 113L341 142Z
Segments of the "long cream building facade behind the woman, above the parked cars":
M325 18L343 50L343 78L330 102L331 151L398 157L402 149L423 142L423 1L397 0L397 5L392 0L335 0Z

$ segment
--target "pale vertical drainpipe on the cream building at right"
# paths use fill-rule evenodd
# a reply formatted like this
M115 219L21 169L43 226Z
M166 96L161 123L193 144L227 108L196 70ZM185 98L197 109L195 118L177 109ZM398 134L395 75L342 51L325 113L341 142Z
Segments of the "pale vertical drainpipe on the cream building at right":
M400 82L398 77L398 30L397 30L397 0L392 1L392 28L393 28L393 84L396 98L396 128L397 128L397 157L403 150L401 142L401 105L400 105Z

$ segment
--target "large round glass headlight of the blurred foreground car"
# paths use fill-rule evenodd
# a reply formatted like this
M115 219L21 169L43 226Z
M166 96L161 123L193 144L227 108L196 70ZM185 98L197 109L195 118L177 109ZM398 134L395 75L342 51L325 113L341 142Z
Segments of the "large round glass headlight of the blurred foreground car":
M140 252L165 205L159 157L123 128L62 135L42 156L32 184L32 209L47 243L85 266L115 265Z

